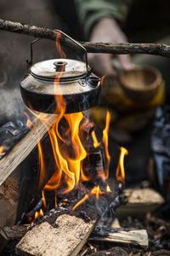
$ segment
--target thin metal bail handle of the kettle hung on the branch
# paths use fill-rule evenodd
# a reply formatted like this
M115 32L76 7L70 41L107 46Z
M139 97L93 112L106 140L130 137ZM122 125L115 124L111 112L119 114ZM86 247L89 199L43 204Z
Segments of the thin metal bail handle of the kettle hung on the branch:
M58 29L54 30L54 32L60 32L62 35L65 36L65 38L70 39L74 44L77 44L81 49L83 49L84 55L85 55L86 70L87 70L87 73L88 73L89 71L88 71L88 52L87 52L87 49L85 47L83 47L82 44L77 42L75 39L73 39L70 36L68 36L67 34L65 34L65 32L62 32L61 30L58 30ZM41 39L42 38L36 38L30 44L30 55L31 55L31 58L30 58L30 61L26 60L28 69L31 67L31 65L33 63L33 44L36 44L37 41L39 41Z

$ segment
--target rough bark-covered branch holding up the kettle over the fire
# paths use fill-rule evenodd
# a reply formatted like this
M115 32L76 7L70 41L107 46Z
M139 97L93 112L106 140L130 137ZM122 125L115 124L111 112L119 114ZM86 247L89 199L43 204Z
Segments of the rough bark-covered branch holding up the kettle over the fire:
M21 24L20 22L8 21L0 19L0 30L8 32L16 32L26 34L36 38L48 38L55 40L57 32L54 30L37 27L33 25ZM76 44L72 43L68 38L61 36L60 44L79 52L80 49ZM91 53L107 53L114 55L124 54L148 54L161 55L170 57L170 46L167 44L132 44L132 43L89 43L81 42L88 52Z

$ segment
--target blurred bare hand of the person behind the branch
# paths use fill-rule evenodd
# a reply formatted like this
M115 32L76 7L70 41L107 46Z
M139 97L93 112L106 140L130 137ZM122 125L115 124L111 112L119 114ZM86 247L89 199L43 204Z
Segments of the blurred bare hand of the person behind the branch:
M127 38L121 28L113 18L103 18L94 26L90 42L103 43L125 43ZM113 55L111 54L88 54L88 62L91 67L94 67L94 73L99 76L116 75L116 70L112 64ZM123 69L131 67L130 55L116 55Z

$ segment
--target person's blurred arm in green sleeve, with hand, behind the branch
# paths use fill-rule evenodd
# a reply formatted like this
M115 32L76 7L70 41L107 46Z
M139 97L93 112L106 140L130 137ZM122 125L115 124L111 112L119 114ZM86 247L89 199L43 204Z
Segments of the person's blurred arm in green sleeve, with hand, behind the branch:
M132 0L75 0L84 34L91 42L127 42L117 21L127 18ZM123 68L130 66L129 55L118 55ZM111 63L112 55L89 54L88 61L95 73L115 74Z

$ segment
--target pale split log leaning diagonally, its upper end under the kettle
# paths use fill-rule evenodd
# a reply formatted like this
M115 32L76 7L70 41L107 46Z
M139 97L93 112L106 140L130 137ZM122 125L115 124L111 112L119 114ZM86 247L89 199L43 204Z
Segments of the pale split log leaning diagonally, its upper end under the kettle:
M53 125L56 115L48 114L48 126ZM35 126L26 136L17 143L14 148L0 160L0 185L5 179L26 159L33 148L37 146L37 140L41 140L47 133L47 128L37 119Z

